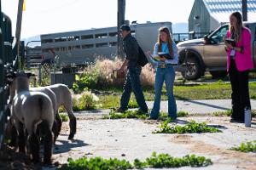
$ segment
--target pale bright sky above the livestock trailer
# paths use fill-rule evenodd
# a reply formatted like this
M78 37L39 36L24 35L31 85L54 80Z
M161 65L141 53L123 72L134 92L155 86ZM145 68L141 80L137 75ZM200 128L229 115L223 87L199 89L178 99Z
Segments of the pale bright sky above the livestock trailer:
M125 20L188 22L195 0L126 0ZM117 25L118 0L25 0L21 38ZM13 22L18 0L2 0L2 11Z

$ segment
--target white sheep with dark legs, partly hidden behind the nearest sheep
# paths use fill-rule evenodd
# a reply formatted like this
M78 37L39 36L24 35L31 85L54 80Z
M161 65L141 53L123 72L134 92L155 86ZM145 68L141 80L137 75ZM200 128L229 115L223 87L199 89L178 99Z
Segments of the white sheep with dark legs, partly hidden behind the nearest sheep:
M15 81L15 79L13 80ZM15 83L9 83L10 88L10 102L14 98L15 94ZM76 117L73 114L73 101L72 101L72 94L70 93L69 89L65 84L55 84L47 87L40 87L40 88L30 88L32 92L42 92L44 94L49 95L49 98L52 99L52 103L54 104L54 111L55 111L55 124L54 124L54 133L55 133L55 140L59 133L61 132L61 116L58 113L58 109L61 105L67 111L67 115L69 117L69 127L70 133L68 139L73 139L74 134L76 133L77 121Z

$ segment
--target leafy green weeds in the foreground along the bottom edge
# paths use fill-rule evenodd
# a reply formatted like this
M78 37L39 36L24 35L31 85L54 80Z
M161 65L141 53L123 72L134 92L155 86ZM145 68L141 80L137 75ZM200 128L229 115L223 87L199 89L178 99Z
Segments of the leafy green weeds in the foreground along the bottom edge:
M152 156L145 161L135 159L130 161L118 160L116 158L103 159L102 157L87 158L82 157L78 160L69 158L68 163L59 169L61 170L126 170L142 169L145 167L163 168L163 167L207 167L212 165L212 161L204 156L187 155L183 157L172 157L168 154L157 155L153 152Z

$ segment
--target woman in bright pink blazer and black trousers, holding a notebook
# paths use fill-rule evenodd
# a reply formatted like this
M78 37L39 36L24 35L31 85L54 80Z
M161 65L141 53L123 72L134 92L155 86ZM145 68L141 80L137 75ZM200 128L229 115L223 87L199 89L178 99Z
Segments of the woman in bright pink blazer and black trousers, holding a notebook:
M232 115L230 122L244 122L244 109L251 108L248 72L253 69L253 57L251 50L251 31L242 26L239 12L230 15L230 30L227 38L234 40L225 41L228 62L227 71L230 75L232 87Z

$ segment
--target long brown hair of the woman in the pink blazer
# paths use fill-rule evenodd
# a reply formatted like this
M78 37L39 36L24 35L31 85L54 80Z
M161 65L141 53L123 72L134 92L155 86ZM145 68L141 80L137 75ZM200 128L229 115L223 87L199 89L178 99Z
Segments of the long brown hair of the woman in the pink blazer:
M234 26L230 26L230 33L234 36L234 39L236 42L239 42L241 40L241 31L242 31L242 20L241 20L241 14L239 12L234 12L230 14L230 16L236 17L236 29Z

